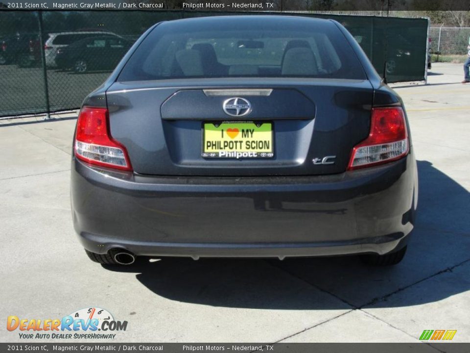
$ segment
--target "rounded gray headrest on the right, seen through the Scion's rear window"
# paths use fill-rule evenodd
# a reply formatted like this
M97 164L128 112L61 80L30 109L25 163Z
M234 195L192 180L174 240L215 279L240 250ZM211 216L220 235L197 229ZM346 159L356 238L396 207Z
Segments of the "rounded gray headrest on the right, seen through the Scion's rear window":
M317 75L317 60L309 48L292 48L286 51L282 75Z

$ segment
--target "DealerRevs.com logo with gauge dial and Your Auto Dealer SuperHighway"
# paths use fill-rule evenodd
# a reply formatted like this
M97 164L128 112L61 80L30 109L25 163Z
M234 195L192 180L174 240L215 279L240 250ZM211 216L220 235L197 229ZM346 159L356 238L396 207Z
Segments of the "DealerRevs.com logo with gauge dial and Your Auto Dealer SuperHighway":
M127 329L127 321L117 321L109 311L90 307L76 310L62 319L23 319L10 315L6 328L20 331L18 334L24 339L114 339L114 332Z

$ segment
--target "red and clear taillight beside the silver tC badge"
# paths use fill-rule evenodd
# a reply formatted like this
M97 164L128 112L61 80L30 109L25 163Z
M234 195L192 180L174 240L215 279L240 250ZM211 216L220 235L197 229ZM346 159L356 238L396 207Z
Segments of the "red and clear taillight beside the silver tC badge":
M348 170L400 159L408 149L403 110L400 107L372 108L371 132L352 149Z

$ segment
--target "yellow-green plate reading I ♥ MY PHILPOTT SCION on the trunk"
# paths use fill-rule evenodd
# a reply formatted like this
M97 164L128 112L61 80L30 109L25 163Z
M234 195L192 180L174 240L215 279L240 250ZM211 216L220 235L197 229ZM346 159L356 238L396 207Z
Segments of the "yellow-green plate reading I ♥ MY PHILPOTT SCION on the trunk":
M203 124L204 158L272 158L273 124L222 122Z

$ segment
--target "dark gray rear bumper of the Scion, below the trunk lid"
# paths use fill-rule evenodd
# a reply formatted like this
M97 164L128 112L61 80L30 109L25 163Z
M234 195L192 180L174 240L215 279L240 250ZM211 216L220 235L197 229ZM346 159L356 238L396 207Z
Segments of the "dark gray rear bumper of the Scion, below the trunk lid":
M71 168L72 216L91 252L198 257L394 252L413 228L412 153L329 176L135 176Z

